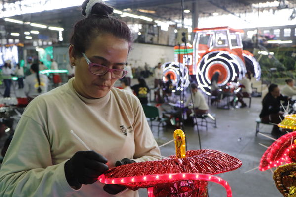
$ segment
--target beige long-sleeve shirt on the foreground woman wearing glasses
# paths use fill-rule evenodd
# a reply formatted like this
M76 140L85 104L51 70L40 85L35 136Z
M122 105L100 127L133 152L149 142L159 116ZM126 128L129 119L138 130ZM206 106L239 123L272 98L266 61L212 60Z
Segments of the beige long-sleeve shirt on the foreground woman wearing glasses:
M86 99L67 84L36 97L20 119L0 170L1 197L138 197L126 190L118 195L95 182L72 189L64 164L85 147L108 159L136 162L160 159L160 151L139 100L118 88L103 98Z

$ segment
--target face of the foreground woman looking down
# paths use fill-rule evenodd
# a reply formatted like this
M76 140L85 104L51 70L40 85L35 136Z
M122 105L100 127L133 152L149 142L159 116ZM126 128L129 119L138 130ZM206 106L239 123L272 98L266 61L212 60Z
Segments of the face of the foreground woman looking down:
M124 69L129 44L124 39L119 39L111 34L97 36L85 51L86 57L93 63L113 69ZM73 47L69 48L70 61L75 63L75 90L85 98L95 99L104 97L113 87L117 79L111 78L111 73L94 75L89 71L85 58L75 57Z

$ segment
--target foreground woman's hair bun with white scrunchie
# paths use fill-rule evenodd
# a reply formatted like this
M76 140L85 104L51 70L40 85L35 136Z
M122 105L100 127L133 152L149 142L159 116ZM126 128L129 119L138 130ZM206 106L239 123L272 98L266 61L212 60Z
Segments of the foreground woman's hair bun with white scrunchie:
M108 16L113 13L113 8L107 6L102 0L85 0L81 8L82 14L86 17L91 15Z

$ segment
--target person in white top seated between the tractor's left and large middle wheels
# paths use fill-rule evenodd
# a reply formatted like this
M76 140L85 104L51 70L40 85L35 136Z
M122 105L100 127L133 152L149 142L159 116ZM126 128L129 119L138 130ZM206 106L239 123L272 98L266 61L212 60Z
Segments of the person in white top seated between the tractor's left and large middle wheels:
M195 114L197 116L201 116L203 114L208 113L209 106L206 102L206 99L204 95L198 91L197 84L191 83L190 85L191 92L192 92L192 99L191 99L191 94L188 95L186 99L186 103L184 104L185 107L188 107L189 103L192 102L193 100L193 107ZM187 117L192 113L190 109L187 110Z

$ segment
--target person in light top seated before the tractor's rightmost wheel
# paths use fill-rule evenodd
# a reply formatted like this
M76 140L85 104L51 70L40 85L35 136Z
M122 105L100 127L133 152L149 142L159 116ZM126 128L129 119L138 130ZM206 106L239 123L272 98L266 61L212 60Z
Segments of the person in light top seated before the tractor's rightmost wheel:
M241 103L241 108L244 108L247 107L247 104L244 102L243 98L249 97L252 94L251 72L248 71L246 76L239 82L242 86L242 90L238 92L236 96L238 98L238 102Z

